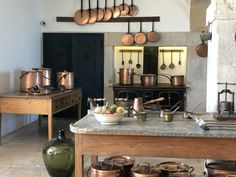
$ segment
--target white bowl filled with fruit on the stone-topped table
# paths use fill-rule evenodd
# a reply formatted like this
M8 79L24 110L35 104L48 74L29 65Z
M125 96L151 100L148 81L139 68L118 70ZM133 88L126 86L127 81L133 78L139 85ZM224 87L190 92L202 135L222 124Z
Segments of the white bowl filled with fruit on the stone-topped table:
M97 106L92 113L101 124L115 125L122 120L128 111L116 104L110 106L106 104L105 106Z

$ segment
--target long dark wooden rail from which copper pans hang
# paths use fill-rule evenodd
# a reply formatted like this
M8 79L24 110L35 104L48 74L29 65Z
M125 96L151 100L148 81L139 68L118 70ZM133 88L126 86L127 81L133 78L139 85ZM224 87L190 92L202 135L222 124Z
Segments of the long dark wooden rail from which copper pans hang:
M74 17L56 17L57 22L75 22ZM118 22L160 22L160 17L119 17L109 21L98 21L97 23L118 23Z

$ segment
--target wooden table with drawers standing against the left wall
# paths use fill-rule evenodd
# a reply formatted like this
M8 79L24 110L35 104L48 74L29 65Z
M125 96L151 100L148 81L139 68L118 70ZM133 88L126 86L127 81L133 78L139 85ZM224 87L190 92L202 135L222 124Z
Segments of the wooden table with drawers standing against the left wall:
M53 114L77 105L78 118L80 119L81 99L81 89L53 91L52 94L40 96L23 92L0 95L0 144L2 113L47 115L48 140L51 140L53 137Z

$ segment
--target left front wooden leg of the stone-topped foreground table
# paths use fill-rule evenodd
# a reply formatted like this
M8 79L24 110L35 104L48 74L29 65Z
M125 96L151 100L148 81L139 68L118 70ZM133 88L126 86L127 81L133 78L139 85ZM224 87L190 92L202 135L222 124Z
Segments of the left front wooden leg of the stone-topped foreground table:
M75 177L84 176L84 155L82 153L82 136L75 134Z

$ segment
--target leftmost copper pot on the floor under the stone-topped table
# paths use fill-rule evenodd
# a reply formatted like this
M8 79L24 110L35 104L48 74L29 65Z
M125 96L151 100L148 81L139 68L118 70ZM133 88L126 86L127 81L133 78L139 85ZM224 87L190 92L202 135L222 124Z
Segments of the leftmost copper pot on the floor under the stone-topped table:
M91 165L91 177L118 177L121 176L121 167L98 162Z

